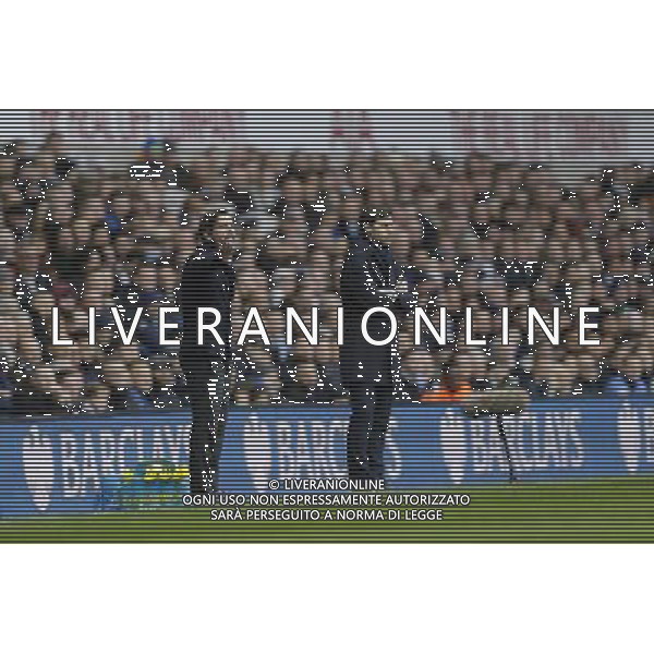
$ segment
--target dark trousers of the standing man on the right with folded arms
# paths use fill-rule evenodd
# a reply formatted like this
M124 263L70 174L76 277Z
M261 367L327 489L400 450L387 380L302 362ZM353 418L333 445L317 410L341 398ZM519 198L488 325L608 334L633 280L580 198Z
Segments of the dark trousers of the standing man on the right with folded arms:
M348 474L351 480L380 480L392 407L390 374L378 382L353 380L348 390L352 411L348 427Z

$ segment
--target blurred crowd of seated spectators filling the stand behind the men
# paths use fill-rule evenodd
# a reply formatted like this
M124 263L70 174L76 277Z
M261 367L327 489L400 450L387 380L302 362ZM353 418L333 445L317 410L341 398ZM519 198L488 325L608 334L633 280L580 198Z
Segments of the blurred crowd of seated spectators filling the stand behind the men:
M157 310L175 305L181 267L202 216L229 207L237 229L234 330L257 306L271 343L246 342L234 401L344 401L336 344L347 235L364 215L390 215L391 246L450 342L413 343L400 322L398 397L453 398L461 389L521 384L534 397L649 391L654 374L652 169L598 169L573 184L544 166L479 154L446 161L396 152L197 150L178 161L146 144L134 166L82 167L61 135L0 154L0 405L17 414L180 407L174 346L159 346ZM101 164L101 162L100 162ZM286 306L320 307L323 343L287 346ZM52 346L51 308L61 338ZM97 307L88 346L87 307ZM132 346L117 338L144 308ZM463 342L464 307L474 336ZM510 307L511 346L499 344ZM526 343L528 306L561 312L561 344ZM580 306L598 306L601 344L580 346ZM303 314L304 310L304 314ZM170 319L170 318L169 318Z

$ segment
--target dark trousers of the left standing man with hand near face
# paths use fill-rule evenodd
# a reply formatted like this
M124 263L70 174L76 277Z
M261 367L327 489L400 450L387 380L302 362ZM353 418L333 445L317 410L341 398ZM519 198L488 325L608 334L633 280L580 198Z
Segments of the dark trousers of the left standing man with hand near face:
M215 493L229 404L229 365L223 358L184 350L180 352L180 363L186 378L192 415L190 491L193 494Z

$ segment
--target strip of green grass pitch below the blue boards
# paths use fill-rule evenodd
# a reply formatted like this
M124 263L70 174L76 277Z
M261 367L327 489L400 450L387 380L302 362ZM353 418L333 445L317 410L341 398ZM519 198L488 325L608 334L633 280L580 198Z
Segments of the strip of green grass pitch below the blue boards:
M180 507L180 509L72 517L2 519L0 542L654 542L654 479L650 476L565 484L518 483L511 486L439 489L439 493L448 492L468 493L471 496L470 505L468 507L414 507L441 508L444 512L441 521L211 521L210 507Z

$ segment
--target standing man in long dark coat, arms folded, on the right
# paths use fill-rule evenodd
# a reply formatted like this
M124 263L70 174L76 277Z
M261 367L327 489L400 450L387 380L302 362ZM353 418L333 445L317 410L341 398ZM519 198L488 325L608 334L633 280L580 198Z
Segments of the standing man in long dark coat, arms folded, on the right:
M366 312L386 307L395 312L408 298L402 271L386 244L390 220L359 222L348 228L349 251L340 279L343 306L341 378L350 393L352 413L348 428L348 472L352 480L384 476L384 445L395 386L393 344L370 343L362 331ZM405 294L407 293L407 294ZM388 339L392 318L383 312L367 319L375 341ZM395 339L393 339L395 340Z

